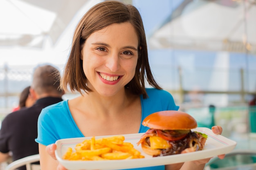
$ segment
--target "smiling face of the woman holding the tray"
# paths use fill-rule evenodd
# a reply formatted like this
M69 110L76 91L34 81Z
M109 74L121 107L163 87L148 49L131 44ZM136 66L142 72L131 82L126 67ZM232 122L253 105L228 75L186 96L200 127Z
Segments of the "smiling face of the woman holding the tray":
M92 33L82 49L88 87L112 96L130 82L138 60L138 37L129 22L111 24Z

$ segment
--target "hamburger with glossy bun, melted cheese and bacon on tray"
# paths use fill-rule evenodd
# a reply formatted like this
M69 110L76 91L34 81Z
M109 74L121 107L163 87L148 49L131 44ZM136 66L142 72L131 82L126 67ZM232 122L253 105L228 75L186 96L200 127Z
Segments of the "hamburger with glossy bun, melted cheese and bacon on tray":
M194 152L204 148L207 135L192 131L196 120L181 111L166 110L148 115L142 125L149 127L137 145L153 157Z

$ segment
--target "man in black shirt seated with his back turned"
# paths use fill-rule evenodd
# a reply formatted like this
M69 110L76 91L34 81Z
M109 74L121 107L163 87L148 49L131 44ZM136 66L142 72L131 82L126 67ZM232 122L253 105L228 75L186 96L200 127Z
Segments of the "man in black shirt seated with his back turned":
M33 106L8 114L0 129L0 162L38 154L37 120L43 108L61 102L59 71L51 65L38 66L34 70L29 93L36 100ZM26 170L25 166L18 170Z

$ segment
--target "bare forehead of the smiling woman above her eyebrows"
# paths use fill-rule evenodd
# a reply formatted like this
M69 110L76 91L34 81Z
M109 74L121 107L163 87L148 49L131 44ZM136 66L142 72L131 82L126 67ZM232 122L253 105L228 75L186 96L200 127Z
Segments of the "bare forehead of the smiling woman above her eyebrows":
M130 22L114 23L92 33L86 42L113 42L138 45L138 36Z

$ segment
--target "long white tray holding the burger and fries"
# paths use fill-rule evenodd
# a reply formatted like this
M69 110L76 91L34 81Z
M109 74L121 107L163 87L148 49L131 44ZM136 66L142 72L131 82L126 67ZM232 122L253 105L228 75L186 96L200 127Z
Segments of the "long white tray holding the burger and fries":
M214 157L217 155L227 154L231 152L235 146L236 141L232 141L222 135L215 135L209 128L195 128L193 131L202 132L208 135L205 147L203 150L169 155L163 157L151 157L146 155L141 146L137 146L137 142L144 133L128 134L124 135L125 141L134 145L134 148L141 152L145 158L142 159L128 159L128 160L107 160L107 161L68 161L62 159L62 156L67 151L67 148L74 149L75 145L81 143L85 139L91 139L91 137L80 137L70 139L60 139L56 141L57 149L55 151L57 160L68 170L119 170L128 168L141 168L148 166L160 166L172 163L181 163L186 161L194 161L198 159L205 159ZM113 136L113 135L111 135ZM96 139L106 136L95 137Z

